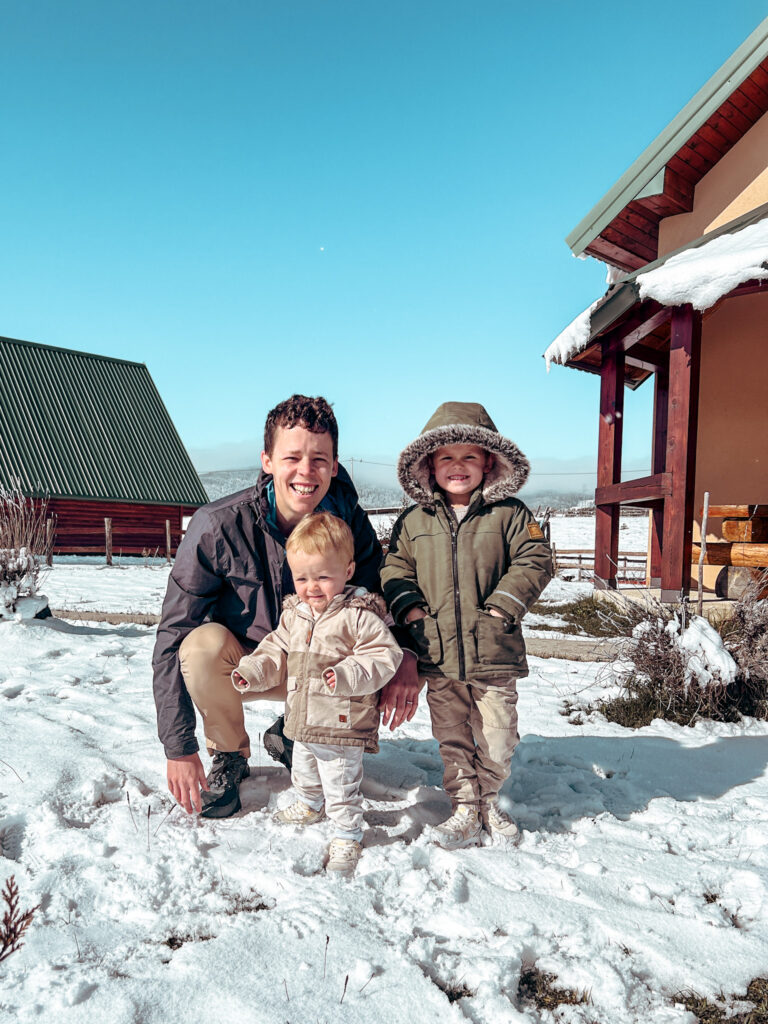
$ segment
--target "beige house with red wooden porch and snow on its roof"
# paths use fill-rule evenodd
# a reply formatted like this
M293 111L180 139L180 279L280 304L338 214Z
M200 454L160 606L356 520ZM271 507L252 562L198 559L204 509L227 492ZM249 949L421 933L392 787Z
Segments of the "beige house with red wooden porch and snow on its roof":
M545 353L600 375L596 584L615 588L620 510L642 506L648 585L676 600L696 571L706 492L768 512L768 18L566 241L612 282ZM646 381L652 472L623 481L625 388ZM714 563L768 565L768 548L738 555L734 528L708 520L708 589Z

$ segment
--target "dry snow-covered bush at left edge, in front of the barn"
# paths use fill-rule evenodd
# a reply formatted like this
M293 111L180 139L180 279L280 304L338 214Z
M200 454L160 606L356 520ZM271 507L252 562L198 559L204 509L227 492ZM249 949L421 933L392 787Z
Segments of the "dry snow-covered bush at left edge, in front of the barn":
M0 484L0 620L15 617L20 602L32 614L46 603L38 598L46 511L44 502Z

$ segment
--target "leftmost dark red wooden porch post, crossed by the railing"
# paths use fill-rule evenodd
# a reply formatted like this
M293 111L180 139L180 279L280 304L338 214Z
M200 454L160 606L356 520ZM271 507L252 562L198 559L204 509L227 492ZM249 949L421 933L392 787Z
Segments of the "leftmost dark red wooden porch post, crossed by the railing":
M597 486L608 487L622 479L624 427L624 349L603 343L600 370L600 427ZM595 507L595 588L615 590L621 505Z

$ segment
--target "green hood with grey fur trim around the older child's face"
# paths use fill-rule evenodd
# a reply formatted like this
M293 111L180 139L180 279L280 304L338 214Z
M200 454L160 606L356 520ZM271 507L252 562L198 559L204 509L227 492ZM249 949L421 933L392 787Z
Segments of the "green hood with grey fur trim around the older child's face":
M429 456L446 444L477 444L494 456L494 465L482 482L485 502L511 498L528 478L528 460L516 444L499 433L482 406L474 401L445 401L397 460L400 486L419 505L430 508L434 505Z

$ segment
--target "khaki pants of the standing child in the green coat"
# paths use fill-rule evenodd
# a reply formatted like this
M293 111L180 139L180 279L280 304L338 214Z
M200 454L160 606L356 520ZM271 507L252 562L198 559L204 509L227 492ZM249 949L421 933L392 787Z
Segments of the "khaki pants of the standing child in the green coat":
M517 733L515 679L499 683L430 677L427 703L454 809L495 800L509 777Z

